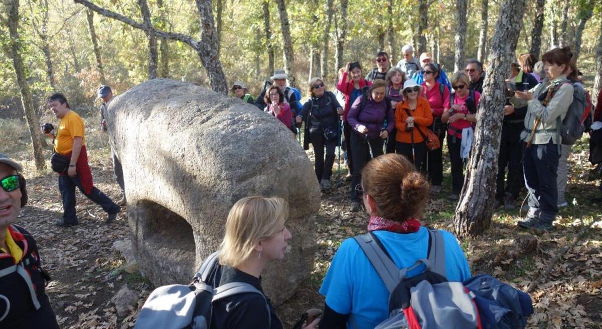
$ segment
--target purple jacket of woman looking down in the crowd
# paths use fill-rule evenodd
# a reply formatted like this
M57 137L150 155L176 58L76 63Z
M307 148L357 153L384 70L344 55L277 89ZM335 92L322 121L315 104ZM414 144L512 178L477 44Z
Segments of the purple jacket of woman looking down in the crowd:
M353 128L353 130L358 131L359 125L365 125L368 128L368 135L371 138L376 138L380 134L380 130L383 127L383 122L386 119L386 130L393 131L395 128L395 113L393 111L393 107L389 107L387 110L386 100L382 100L379 103L376 103L372 100L372 97L368 98L364 109L360 110L359 106L362 102L362 98L364 95L359 96L351 106L349 110L349 114L347 115L347 122Z

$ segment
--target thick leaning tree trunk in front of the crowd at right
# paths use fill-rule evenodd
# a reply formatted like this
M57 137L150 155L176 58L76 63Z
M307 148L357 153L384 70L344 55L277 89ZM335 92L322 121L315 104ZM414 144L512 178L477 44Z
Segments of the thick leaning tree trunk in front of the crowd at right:
M518 34L523 27L526 0L504 0L495 25L495 35L489 55L483 94L477 112L477 127L464 188L454 219L455 233L459 237L475 236L491 225L498 154L500 152L501 124L506 103L505 79L514 61Z

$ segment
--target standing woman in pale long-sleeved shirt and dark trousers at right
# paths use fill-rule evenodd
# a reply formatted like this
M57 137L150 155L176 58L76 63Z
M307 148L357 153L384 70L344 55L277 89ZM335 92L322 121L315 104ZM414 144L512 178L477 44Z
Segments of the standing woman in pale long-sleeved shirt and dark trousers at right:
M516 91L510 100L515 107L528 106L521 140L525 145L523 171L529 190L529 213L518 226L534 229L535 233L552 229L558 213L559 125L573 103L573 85L566 79L572 58L569 47L545 53L545 79L530 91Z

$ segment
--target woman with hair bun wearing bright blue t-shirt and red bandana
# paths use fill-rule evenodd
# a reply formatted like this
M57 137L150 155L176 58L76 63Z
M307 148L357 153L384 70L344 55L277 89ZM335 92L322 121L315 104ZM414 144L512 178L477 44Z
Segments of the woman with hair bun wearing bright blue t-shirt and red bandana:
M362 170L362 201L372 232L398 268L427 258L429 231L420 219L430 186L401 154L374 158ZM456 237L441 231L446 276L450 281L470 278L470 268ZM410 271L409 277L417 275ZM337 250L324 277L320 294L326 297L320 328L374 328L388 318L389 292L359 244L348 238Z

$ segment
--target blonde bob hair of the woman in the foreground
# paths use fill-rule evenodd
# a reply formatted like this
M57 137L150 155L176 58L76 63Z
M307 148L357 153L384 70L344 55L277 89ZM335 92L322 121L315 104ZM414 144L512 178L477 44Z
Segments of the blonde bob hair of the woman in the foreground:
M259 241L282 230L288 204L282 198L249 196L238 200L228 213L226 234L220 245L220 264L238 267L246 261Z

